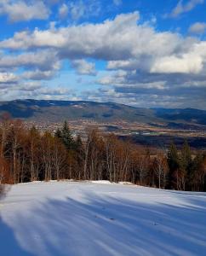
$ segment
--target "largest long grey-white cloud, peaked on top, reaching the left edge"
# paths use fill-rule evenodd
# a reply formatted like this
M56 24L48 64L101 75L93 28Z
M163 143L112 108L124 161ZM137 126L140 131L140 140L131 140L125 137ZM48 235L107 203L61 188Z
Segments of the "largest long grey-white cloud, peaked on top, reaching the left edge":
M128 60L142 55L169 55L184 40L171 32L155 32L151 26L137 26L140 15L117 15L101 24L68 26L56 30L17 32L0 43L5 49L55 48L70 58L94 57L108 61Z

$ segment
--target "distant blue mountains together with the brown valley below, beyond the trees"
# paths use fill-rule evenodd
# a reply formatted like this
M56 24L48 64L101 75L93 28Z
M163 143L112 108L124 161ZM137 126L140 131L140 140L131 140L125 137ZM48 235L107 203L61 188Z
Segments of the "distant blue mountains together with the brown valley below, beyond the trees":
M21 119L29 128L56 131L68 121L74 136L88 130L114 133L117 137L149 147L206 148L206 111L199 109L134 108L114 102L15 100L0 102L0 116Z

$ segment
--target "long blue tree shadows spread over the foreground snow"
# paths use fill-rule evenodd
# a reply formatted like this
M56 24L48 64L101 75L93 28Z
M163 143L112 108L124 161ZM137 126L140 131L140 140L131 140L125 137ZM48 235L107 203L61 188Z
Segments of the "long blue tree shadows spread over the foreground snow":
M14 223L19 244L35 255L200 256L206 252L205 212L206 202L176 207L86 193L83 201L48 200L31 216L17 214Z

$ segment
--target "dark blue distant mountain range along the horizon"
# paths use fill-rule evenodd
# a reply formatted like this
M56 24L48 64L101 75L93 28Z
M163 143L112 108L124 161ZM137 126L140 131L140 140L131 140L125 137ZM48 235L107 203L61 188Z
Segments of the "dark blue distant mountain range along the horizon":
M0 102L0 115L14 119L62 122L90 119L98 122L124 120L171 128L206 125L206 111L193 108L134 108L114 102L15 100Z

